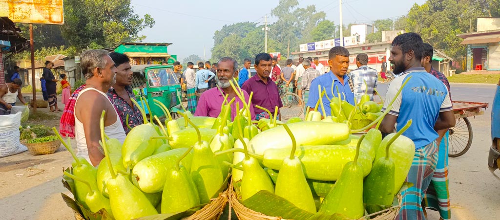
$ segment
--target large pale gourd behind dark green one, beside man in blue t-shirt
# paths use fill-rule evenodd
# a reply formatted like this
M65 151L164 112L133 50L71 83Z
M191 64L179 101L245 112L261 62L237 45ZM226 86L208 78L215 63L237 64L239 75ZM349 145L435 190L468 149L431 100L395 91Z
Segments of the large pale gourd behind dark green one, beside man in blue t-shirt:
M411 123L411 120L406 123ZM394 140L394 142L392 142L389 149L391 155L390 158L394 160L395 164L393 190L394 193L399 191L404 183L404 180L406 179L406 176L408 175L411 163L413 162L413 157L415 155L415 144L411 139L403 136L402 132L400 132L399 134L392 133L383 138L375 155L375 160L385 157L385 147L389 143L389 140L396 135L398 137Z

